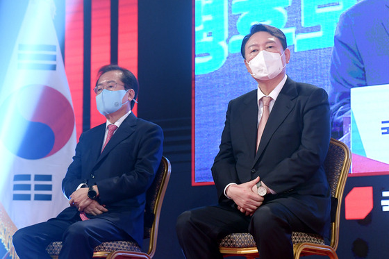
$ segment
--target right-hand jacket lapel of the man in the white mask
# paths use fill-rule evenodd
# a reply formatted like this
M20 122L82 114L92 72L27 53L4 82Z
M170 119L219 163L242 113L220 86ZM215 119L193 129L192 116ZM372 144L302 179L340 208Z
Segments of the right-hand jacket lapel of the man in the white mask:
M274 103L272 112L270 112L269 119L267 120L263 135L260 139L258 152L256 153L254 159L254 165L265 150L265 147L272 138L272 135L276 129L283 123L285 118L292 111L293 107L295 107L296 97L297 89L295 82L288 77L285 85L283 85L283 88L276 99L276 102Z

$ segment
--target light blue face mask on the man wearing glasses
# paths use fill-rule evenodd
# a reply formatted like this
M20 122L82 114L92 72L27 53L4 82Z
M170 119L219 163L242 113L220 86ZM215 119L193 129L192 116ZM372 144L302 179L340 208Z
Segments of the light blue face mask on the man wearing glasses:
M129 90L109 91L104 89L101 94L96 96L97 110L104 116L116 112L120 107L129 102L129 100L127 100L125 103L122 103L123 97L128 91Z

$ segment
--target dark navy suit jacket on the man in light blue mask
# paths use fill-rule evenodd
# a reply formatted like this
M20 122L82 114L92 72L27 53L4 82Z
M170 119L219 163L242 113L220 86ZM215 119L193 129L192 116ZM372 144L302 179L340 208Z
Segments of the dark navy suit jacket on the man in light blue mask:
M100 153L105 130L106 124L101 124L81 135L63 192L69 198L81 183L97 184L99 203L108 212L87 216L108 219L142 245L146 191L160 165L163 131L131 112ZM76 214L78 210L69 207L58 217L71 219Z

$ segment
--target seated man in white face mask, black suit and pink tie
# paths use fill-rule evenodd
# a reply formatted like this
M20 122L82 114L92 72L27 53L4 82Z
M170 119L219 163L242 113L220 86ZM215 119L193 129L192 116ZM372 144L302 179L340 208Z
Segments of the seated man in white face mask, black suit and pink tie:
M292 231L328 240L331 199L322 163L330 140L322 88L286 75L285 35L264 24L242 41L258 88L233 99L212 167L219 203L183 212L176 232L186 258L222 258L229 233L254 236L261 259L293 258Z

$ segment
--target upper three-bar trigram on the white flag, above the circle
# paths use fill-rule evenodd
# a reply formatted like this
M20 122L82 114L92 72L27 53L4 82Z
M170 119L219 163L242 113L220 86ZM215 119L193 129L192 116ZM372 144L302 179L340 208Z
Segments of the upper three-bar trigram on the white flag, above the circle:
M56 70L57 47L48 44L19 44L17 69Z

